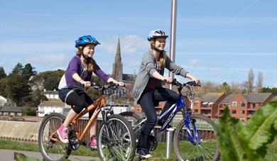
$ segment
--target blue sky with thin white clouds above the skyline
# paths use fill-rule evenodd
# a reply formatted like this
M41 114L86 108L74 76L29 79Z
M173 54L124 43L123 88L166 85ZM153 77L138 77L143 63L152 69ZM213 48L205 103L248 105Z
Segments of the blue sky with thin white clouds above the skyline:
M138 72L150 30L170 34L171 1L0 0L0 67L65 70L75 40L93 35L94 59L112 72L118 38L124 73ZM241 83L249 70L277 87L277 1L178 1L175 62L203 82ZM169 39L165 50L169 52Z

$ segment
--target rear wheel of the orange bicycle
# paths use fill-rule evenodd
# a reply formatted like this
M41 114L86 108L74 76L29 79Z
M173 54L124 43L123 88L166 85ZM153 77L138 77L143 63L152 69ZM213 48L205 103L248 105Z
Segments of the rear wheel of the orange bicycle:
M67 159L71 153L67 144L62 143L61 141L53 142L49 138L50 133L57 131L64 120L65 116L62 114L50 113L48 116L45 116L40 124L38 131L38 145L40 153L45 160L55 161ZM58 134L55 134L54 136L59 140Z

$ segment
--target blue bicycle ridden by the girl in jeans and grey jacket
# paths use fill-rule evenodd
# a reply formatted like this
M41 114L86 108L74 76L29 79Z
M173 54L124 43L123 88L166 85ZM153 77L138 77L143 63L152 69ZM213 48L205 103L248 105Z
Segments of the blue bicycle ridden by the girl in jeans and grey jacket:
M207 116L192 113L190 104L195 97L194 87L200 86L195 82L180 83L173 79L171 83L178 89L179 99L170 106L170 108L159 116L158 120L169 116L160 131L157 134L151 133L149 137L150 151L153 151L158 146L158 140L170 125L176 113L180 111L183 120L175 127L173 135L173 147L178 160L219 160L220 153L216 143L216 131L213 121ZM183 96L182 91L185 93ZM184 99L186 101L184 101ZM132 123L138 141L141 132L141 126L146 121L146 118L141 118L136 113L124 112L120 113Z

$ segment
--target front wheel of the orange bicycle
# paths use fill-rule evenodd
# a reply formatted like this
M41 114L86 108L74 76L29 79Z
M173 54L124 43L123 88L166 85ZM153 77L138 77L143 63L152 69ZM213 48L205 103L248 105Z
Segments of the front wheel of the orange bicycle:
M104 121L97 131L97 151L101 160L133 160L136 152L134 131L123 116L108 116L109 131ZM112 137L108 138L107 133Z

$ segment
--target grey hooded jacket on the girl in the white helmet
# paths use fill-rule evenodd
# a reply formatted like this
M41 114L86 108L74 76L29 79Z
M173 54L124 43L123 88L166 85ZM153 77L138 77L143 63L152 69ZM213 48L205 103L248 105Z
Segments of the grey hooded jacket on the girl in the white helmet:
M139 98L141 97L141 94L143 90L145 89L148 80L150 77L152 77L153 73L156 72L156 63L155 63L155 57L151 50L146 52L146 54L143 55L143 59L141 62L141 67L139 68L139 74L136 77L136 81L133 88L133 94L134 94L134 104L138 103ZM182 67L176 65L174 62L170 60L170 58L166 55L165 58L165 68L167 68L170 72L173 72L177 75L182 75L185 77L185 74L188 72L185 71ZM164 73L164 69L162 70L162 74ZM161 87L161 81L156 85L156 87Z

